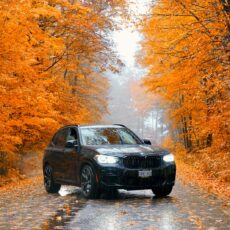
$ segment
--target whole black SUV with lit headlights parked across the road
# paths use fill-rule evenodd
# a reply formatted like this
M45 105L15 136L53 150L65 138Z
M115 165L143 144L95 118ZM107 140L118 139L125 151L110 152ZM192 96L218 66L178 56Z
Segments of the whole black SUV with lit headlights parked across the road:
M45 189L82 188L86 198L102 190L152 189L167 196L175 183L174 157L123 125L68 125L57 131L43 158Z

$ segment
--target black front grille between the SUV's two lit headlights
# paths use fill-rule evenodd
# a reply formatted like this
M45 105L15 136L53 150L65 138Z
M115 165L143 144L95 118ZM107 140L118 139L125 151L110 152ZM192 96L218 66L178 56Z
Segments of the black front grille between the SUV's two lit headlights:
M130 169L149 169L161 166L160 156L128 156L123 159L123 164Z

